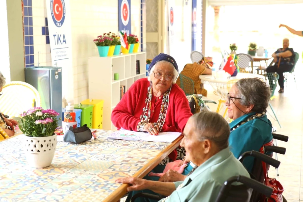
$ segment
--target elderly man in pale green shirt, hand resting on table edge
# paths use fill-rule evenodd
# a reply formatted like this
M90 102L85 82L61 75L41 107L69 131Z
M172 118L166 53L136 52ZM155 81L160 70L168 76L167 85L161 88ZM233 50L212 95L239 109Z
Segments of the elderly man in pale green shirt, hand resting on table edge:
M160 182L140 178L121 178L128 183L127 191L149 189L168 196L162 201L215 201L223 183L230 177L250 177L245 167L228 147L230 128L226 120L215 112L201 112L191 116L184 128L181 146L186 158L195 167L184 181ZM136 201L149 201L142 199Z

